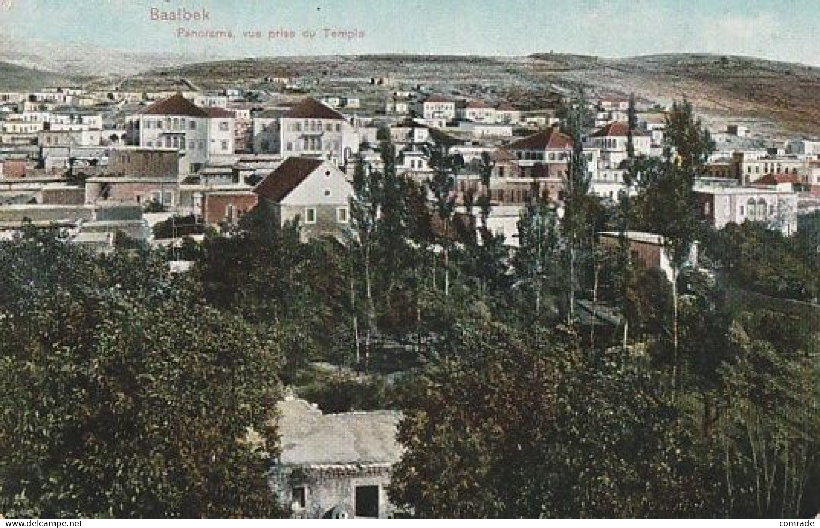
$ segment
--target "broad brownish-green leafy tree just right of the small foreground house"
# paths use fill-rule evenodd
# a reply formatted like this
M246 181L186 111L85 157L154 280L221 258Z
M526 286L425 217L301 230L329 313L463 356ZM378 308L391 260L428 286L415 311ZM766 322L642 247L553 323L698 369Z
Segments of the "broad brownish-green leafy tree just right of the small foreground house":
M500 325L464 330L399 424L394 503L419 517L713 513L709 468L650 376L581 353L572 335L534 344Z

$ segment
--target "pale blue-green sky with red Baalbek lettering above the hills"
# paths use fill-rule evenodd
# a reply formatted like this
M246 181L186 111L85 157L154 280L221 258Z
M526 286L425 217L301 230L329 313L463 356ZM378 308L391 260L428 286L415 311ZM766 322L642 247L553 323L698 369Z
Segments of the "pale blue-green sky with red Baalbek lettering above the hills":
M152 20L180 9L208 20ZM0 32L198 58L709 52L820 66L818 15L818 0L0 0Z

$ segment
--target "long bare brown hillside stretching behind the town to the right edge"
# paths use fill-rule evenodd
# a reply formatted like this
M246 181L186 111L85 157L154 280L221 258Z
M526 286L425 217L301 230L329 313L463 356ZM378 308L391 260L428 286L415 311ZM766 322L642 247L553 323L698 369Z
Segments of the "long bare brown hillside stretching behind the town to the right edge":
M666 106L686 97L705 121L746 122L772 135L820 135L820 68L754 57L668 54L612 59L542 53L529 57L362 55L268 57L189 63L125 80L134 88L175 86L185 79L203 89L264 88L266 75L368 80L388 76L471 97L506 98L532 108L547 92L583 87L589 98L635 96Z

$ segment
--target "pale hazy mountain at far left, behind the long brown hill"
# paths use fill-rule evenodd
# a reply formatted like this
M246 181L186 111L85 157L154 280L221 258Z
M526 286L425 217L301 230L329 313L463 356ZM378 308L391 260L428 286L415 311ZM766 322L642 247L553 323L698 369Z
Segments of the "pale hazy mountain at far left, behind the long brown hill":
M134 75L150 68L180 66L190 60L171 53L52 43L0 33L0 61L68 77Z

